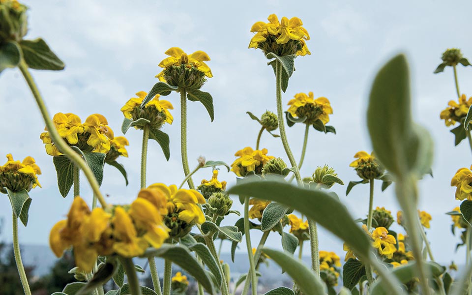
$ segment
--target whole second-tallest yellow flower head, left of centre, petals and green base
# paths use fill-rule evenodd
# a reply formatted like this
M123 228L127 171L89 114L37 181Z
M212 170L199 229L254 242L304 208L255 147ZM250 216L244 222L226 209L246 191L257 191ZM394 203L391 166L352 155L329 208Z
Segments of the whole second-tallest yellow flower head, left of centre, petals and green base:
M159 63L164 69L156 76L161 82L184 89L199 89L207 81L205 77L213 77L205 62L210 57L203 51L187 55L182 49L172 47L165 54L169 57Z

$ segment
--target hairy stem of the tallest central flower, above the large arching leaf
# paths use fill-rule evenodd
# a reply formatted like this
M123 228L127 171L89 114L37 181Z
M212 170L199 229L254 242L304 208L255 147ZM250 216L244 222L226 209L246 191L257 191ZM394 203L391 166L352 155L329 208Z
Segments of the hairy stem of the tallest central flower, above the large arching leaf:
M287 140L287 133L285 132L285 121L284 121L284 112L282 110L282 64L277 61L275 66L275 96L277 103L277 119L279 123L280 138L282 139L282 144L284 146L287 157L289 158L290 165L295 170L295 178L298 182L298 185L303 187L303 182L300 177L300 172L298 171L298 166L296 165L294 154L290 149L289 142Z

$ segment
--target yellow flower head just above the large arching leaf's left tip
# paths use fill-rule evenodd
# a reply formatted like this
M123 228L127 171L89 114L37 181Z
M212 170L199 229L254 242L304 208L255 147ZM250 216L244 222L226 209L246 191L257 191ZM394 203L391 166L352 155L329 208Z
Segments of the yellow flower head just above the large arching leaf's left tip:
M274 159L273 156L267 156L267 148L261 150L253 150L250 147L238 150L235 153L237 158L233 164L231 164L231 171L233 171L239 177L245 177L249 172L255 174L261 174L262 167L270 160Z

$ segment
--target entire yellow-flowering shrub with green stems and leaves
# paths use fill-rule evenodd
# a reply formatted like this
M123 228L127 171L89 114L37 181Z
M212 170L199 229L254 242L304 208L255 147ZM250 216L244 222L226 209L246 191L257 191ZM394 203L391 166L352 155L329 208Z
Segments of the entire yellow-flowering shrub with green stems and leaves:
M309 177L300 175L311 127L324 135L336 134L336 129L327 125L333 106L326 97L315 98L313 92L299 92L284 109L283 92L294 73L295 60L299 60L296 58L310 55L306 44L310 36L299 18L282 17L279 21L275 14L268 17L268 23L260 21L248 28L255 33L249 48L260 49L269 60L276 85L276 113L266 110L259 118L247 112L260 124L256 146L237 150L231 166L201 157L197 167L190 170L186 104L187 100L201 102L213 121L213 98L201 90L213 74L207 64L210 61L207 53L186 54L178 47L171 47L164 53L168 57L158 65L162 68L156 76L159 82L149 87L148 92L137 92L137 97L127 101L123 98L121 132L125 134L130 127L135 127L138 131L134 132L143 134L141 181L132 196L134 201L113 204L115 200L106 200L100 190L103 166L106 163L116 167L127 185L126 170L117 160L128 156L129 142L123 136L115 136L108 120L100 114L90 115L85 121L71 113L57 113L51 118L29 69L61 70L64 64L43 39L25 39L27 11L28 7L17 0L0 0L0 72L7 68L20 69L46 124L39 138L45 144L46 153L52 156L59 193L65 198L73 188L70 210L66 218L58 220L51 229L49 240L57 257L72 248L76 267L70 272L80 282L65 286L60 294L102 295L103 285L110 279L118 288L110 291L111 295L185 294L188 275L198 282L199 295L204 292L229 295L236 291L247 295L249 289L256 295L257 270L261 263L278 264L294 281L291 288L279 287L266 295L337 292L445 295L466 291L471 294L472 172L460 168L451 176L450 185L456 188L455 199L462 203L446 214L451 215L453 234L456 229L462 231L458 247L467 248L466 269L461 276L453 278L451 271L457 270L457 266L452 264L447 270L435 262L427 236L427 231L434 230L430 226L432 217L417 207L420 193L417 183L432 174L433 144L428 131L413 122L408 63L403 55L389 60L372 83L366 116L373 151L354 153L353 150L355 160L350 166L360 180L349 182L346 195L355 185L369 184L365 219L354 220L339 197L330 191L334 185L344 185L333 167L324 164ZM448 103L440 118L446 126L459 123L451 130L455 144L468 138L472 148L469 131L472 102L459 91L459 64L471 65L459 49L448 49L435 71L453 68L458 97L458 101ZM180 181L175 182L180 183L177 186L154 182L159 179L151 176L153 183L149 185L146 173L149 139L159 144L167 160L171 156L170 138L162 131L162 126L172 124L176 115L173 104L162 98L173 92L180 95L180 154L185 178L176 179ZM305 127L299 161L295 161L286 130L286 125L293 127L297 123L304 123ZM274 131L279 134L272 133ZM271 155L266 148L260 148L266 132L280 140L285 154ZM288 162L282 159L285 156ZM211 168L207 169L211 177L202 179L196 186L194 174L206 168ZM224 168L235 174L236 185L231 188L227 188L225 180L218 179L218 169ZM81 197L81 174L92 188L90 205ZM34 193L32 188L40 187L38 175L41 170L30 156L20 162L8 154L7 162L0 166L0 192L8 196L12 206L15 258L26 295L31 292L21 262L18 219L27 226L32 201L29 194ZM382 183L382 190L392 183L395 186L402 209L397 212L396 220L387 208L373 207L374 184L378 182ZM232 209L235 196L244 205L243 212ZM233 225L226 219L230 214L242 217ZM390 228L395 221L402 232ZM339 237L346 253L320 250L318 226ZM255 243L251 241L254 236L251 234L255 232L262 232L257 247L253 247ZM267 237L273 233L281 236L284 251L266 247ZM231 269L220 260L215 240L230 240L234 259L243 236L250 267L232 284ZM310 246L311 267L301 261L305 242ZM297 249L298 255L295 255ZM340 255L344 255L344 265ZM140 286L136 271L142 269L133 264L135 257L148 259L152 290ZM162 288L156 258L164 260ZM173 265L179 266L185 275L177 272L172 276ZM125 275L127 284L124 284Z

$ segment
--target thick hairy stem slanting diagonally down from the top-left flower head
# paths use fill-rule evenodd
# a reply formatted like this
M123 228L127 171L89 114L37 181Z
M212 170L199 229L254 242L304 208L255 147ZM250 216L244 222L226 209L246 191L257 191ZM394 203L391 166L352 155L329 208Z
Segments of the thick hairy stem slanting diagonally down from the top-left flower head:
M46 108L46 105L44 104L41 94L39 93L39 90L36 84L34 83L31 74L28 71L28 65L26 64L25 60L22 59L18 67L21 73L23 74L23 77L25 78L26 82L28 83L29 89L31 90L31 93L34 96L34 99L36 100L36 104L38 105L38 108L41 111L41 115L44 119L44 122L46 123L47 130L51 135L53 143L56 145L56 147L61 153L66 155L75 165L79 166L79 168L84 172L85 177L87 177L90 187L97 195L98 201L100 202L102 207L108 207L105 198L100 192L100 185L98 185L97 179L93 175L85 160L77 152L70 148L69 145L62 139L62 137L59 136L58 130L56 129L56 126L54 125L53 121L49 116L49 112Z

